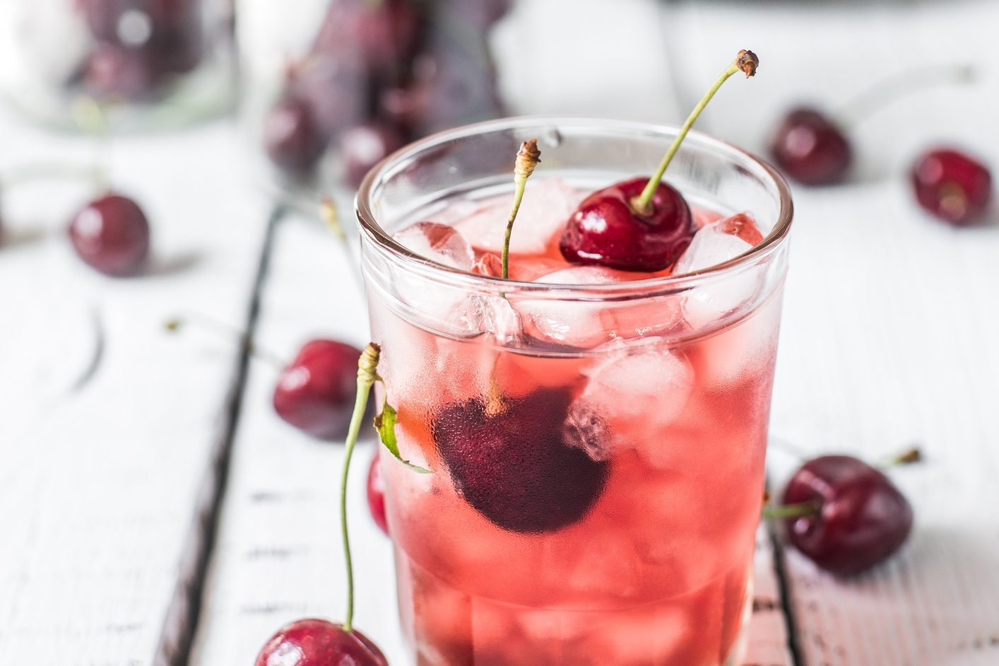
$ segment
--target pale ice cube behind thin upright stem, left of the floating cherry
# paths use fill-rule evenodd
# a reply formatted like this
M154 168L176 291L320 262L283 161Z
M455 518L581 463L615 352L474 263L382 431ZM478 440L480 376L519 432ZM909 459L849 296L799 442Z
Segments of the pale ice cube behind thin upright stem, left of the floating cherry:
M584 196L584 192L570 187L560 178L529 181L510 234L509 251L517 254L544 252ZM485 201L476 212L455 226L477 248L502 252L512 202L512 194Z

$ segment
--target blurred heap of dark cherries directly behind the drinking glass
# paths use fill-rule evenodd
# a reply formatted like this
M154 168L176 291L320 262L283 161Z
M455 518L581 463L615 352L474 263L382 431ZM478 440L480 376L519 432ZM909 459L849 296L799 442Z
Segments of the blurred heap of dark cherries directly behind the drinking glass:
M486 32L509 0L333 0L264 128L292 176L334 147L348 182L423 134L500 114Z

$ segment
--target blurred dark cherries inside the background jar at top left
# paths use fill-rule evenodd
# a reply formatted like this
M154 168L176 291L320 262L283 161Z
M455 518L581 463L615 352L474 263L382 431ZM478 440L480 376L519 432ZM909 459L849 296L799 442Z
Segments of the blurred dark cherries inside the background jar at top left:
M75 0L94 46L73 83L104 99L144 101L204 55L201 0Z

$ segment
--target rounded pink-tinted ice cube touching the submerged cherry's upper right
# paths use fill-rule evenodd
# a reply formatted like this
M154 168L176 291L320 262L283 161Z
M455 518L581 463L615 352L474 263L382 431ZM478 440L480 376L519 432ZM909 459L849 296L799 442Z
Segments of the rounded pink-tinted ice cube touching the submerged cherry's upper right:
M625 448L657 446L693 388L693 370L681 353L611 344L614 351L583 371L589 381L565 419L568 441L595 460Z

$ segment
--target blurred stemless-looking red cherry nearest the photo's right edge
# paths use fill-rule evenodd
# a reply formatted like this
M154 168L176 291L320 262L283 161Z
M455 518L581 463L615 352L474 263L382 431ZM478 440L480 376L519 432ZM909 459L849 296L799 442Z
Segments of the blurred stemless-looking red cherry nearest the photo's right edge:
M988 168L950 148L920 155L912 166L911 179L919 205L956 226L980 218L992 198L992 174Z

